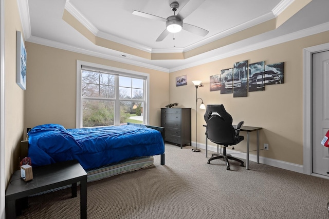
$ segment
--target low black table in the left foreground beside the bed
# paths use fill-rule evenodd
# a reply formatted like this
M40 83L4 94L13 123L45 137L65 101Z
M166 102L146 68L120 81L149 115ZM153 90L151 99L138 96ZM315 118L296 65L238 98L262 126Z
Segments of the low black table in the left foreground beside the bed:
M87 173L78 161L34 167L32 171L33 180L28 182L21 179L21 170L13 173L6 190L6 218L16 218L16 200L29 195L72 184L72 197L77 197L79 181L80 217L87 218Z

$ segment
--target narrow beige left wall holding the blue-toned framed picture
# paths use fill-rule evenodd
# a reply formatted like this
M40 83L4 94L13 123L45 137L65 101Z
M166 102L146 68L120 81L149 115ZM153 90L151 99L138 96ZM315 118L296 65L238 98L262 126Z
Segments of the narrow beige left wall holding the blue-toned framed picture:
M5 0L5 175L6 182L19 167L23 140L24 94L16 84L16 30L22 32L17 2ZM24 37L24 35L23 35Z

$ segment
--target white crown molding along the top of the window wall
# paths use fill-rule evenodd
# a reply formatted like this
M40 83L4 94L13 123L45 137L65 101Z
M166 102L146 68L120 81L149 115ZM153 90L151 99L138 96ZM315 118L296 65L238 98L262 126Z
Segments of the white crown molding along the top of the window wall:
M79 47L74 47L71 45L67 45L67 44L63 44L63 43L59 43L59 42L55 42L55 41L50 41L49 39L44 39L44 38L40 38L40 37L36 37L36 36L31 36L30 38L28 38L27 42L40 44L43 46L49 46L49 47L53 47L53 48L57 48L57 49L67 50L70 52L77 52L77 53L81 53L81 54L85 54L85 55L108 59L108 60L115 61L115 62L125 63L125 64L129 64L129 65L134 65L134 66L139 66L139 67L143 67L143 68L148 68L148 69L153 69L153 70L169 73L168 68L162 68L162 67L155 66L155 65L145 64L142 62L134 61L129 58L125 59L125 58L121 57L120 55L118 55L120 57L116 57L113 55L108 55L108 54L97 52L97 51L91 51L91 50L87 50L87 49L83 49L83 48L79 48Z

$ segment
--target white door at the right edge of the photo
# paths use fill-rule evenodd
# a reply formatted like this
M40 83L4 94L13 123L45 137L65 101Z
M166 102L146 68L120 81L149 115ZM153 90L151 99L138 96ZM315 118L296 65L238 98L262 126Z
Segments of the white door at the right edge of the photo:
M329 130L329 51L313 54L312 62L312 172L329 176L328 148L321 145Z

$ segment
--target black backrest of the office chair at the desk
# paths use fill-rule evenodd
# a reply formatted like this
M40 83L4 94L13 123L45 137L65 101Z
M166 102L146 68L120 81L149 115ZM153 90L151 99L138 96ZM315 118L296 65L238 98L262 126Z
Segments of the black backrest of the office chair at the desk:
M222 104L207 105L204 117L207 123L207 137L210 141L220 145L235 144L232 116L226 112Z

